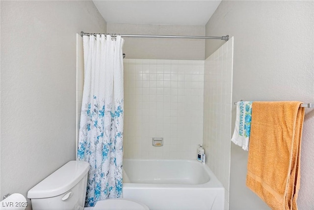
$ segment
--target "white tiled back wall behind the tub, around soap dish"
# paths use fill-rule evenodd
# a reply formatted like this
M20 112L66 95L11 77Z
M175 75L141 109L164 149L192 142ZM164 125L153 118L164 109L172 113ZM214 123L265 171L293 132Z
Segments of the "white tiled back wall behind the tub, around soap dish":
M196 158L203 87L204 60L124 59L124 157Z

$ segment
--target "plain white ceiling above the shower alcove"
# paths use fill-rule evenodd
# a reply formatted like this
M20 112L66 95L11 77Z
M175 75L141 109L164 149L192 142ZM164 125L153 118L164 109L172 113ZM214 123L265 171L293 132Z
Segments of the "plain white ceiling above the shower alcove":
M205 26L221 0L93 0L107 23Z

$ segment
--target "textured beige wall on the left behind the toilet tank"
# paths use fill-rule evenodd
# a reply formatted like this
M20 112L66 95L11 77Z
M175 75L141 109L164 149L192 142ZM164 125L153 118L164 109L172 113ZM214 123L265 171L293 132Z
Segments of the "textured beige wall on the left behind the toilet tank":
M92 1L1 1L1 198L76 158L81 30L106 31Z

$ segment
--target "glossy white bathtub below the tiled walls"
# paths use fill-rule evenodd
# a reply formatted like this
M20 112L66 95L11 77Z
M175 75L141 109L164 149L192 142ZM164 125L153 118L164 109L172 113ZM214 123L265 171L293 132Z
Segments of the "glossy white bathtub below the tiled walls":
M224 210L224 187L196 160L123 159L123 197L150 210Z

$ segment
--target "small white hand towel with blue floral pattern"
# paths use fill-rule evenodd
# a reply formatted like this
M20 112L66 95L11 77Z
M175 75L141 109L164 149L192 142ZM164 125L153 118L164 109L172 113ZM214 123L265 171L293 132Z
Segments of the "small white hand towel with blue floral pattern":
M243 150L249 150L251 131L252 101L236 103L235 131L231 141Z

